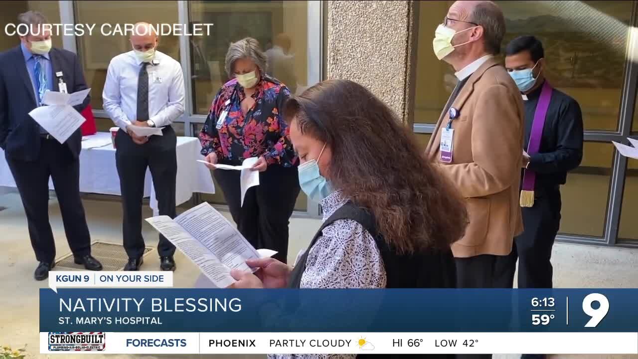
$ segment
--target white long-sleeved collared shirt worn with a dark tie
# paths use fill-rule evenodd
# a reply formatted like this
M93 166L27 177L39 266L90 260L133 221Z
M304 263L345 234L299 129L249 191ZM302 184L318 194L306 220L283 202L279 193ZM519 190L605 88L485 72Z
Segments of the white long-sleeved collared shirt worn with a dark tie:
M137 120L137 82L142 68L133 50L115 56L108 65L102 98L104 110L116 126ZM149 119L156 127L170 125L184 114L184 73L177 61L156 51L149 73Z

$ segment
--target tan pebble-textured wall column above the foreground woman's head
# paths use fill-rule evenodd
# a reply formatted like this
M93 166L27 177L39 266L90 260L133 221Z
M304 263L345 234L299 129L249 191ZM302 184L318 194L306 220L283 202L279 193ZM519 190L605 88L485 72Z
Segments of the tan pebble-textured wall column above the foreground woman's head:
M412 1L328 1L327 79L359 82L406 120Z

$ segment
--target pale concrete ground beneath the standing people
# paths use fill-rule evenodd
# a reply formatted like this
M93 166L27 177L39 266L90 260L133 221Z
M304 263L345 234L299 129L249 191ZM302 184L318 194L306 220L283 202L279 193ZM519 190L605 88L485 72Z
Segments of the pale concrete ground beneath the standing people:
M93 240L121 243L121 205L117 201L85 199L85 209ZM47 287L47 282L36 282L33 271L37 265L29 236L22 204L17 194L0 195L0 346L8 345L14 349L27 348L27 358L44 358L39 355L39 312L38 289ZM56 236L57 256L69 252L64 239L62 220L55 198L50 204L50 220ZM226 217L230 218L228 213ZM151 217L149 208L144 216ZM320 222L306 218L293 218L290 224L290 261L299 250L305 248ZM144 236L148 245L155 246L157 234L144 225ZM198 277L197 268L181 253L175 256L175 287L193 287ZM556 287L638 287L638 250L625 248L591 247L583 245L558 244L554 246L554 283ZM143 269L156 270L159 266L156 253L145 258ZM70 356L70 355L66 355ZM52 355L51 358L63 358L65 355ZM71 358L169 358L175 356L142 355L73 355ZM180 358L200 358L202 356L184 355ZM215 358L263 358L249 355L216 355ZM498 355L495 358L517 358L516 355ZM638 356L554 356L555 358L638 358Z

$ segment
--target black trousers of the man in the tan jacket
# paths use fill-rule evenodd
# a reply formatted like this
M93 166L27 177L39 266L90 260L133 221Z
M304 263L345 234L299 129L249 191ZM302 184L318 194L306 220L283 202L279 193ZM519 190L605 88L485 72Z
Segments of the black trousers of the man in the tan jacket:
M455 258L456 286L458 288L511 288L508 283L507 256L480 256ZM491 354L457 354L459 359L491 358Z

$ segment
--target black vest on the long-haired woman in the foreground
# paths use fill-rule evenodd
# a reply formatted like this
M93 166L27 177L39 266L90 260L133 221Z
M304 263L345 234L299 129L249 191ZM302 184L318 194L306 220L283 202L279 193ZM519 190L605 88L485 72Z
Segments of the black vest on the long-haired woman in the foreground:
M383 235L376 230L375 218L364 208L347 202L336 210L325 222L323 222L315 238L308 249L295 264L295 269L290 277L290 287L299 288L301 276L306 270L306 260L310 248L322 236L325 227L336 220L350 219L358 222L375 238L376 246L381 252L385 273L387 276L387 288L455 288L456 267L451 250L429 251L415 254L399 254L383 239Z

